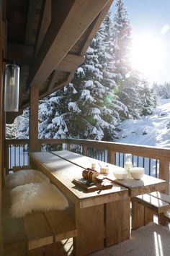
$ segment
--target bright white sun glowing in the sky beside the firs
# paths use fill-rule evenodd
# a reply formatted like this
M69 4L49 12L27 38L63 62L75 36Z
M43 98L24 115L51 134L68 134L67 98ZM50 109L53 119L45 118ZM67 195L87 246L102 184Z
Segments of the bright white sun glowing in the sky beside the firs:
M150 35L134 37L130 55L133 68L149 80L164 66L164 43Z

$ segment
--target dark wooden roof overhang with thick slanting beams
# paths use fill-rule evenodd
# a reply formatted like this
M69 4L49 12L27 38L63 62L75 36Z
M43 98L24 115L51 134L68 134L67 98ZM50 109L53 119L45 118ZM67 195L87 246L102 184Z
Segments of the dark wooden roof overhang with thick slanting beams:
M112 0L6 1L6 58L21 67L19 108L68 85ZM12 115L12 114L11 114Z

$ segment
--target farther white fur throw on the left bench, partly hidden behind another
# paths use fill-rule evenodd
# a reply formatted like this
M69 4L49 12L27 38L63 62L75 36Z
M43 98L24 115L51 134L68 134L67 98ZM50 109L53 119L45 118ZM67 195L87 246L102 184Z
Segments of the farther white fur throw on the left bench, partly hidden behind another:
M9 187L10 189L20 185L29 184L31 182L50 183L50 179L42 174L41 171L33 169L17 171L14 174L9 174L6 176L6 187Z

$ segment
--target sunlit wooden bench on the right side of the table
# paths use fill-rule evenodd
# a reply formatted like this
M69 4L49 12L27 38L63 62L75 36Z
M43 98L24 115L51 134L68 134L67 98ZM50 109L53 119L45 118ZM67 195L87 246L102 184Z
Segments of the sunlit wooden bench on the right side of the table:
M138 229L153 221L153 214L158 216L158 223L165 223L166 212L170 210L170 197L168 195L161 192L151 192L132 197L131 200L133 229ZM168 217L166 216L166 218Z

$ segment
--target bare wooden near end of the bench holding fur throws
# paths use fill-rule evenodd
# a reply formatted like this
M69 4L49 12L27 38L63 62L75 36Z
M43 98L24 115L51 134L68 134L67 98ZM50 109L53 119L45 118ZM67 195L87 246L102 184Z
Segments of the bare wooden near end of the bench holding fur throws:
M61 246L58 242L77 234L68 209L28 214L24 217L24 231L27 254L30 256L60 255Z

